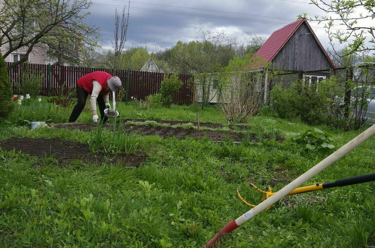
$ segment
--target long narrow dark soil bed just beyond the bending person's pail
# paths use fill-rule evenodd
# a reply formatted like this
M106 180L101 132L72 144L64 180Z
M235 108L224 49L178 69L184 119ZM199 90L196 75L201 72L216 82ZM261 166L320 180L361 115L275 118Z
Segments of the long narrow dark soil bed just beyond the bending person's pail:
M53 124L56 128L67 128L67 129L79 129L81 131L91 131L96 128L94 124L86 123L64 123L64 124ZM112 126L107 126L105 128L112 128ZM136 132L141 135L158 135L163 138L169 138L175 136L178 139L184 139L186 136L202 139L206 136L213 142L224 141L225 137L230 138L234 142L242 142L244 138L249 140L257 140L255 134L248 134L246 137L244 133L235 133L230 131L219 131L219 130L197 130L194 128L182 128L182 127L164 127L164 126L148 126L148 125L136 125L136 124L126 124L124 125L125 133ZM267 138L267 137L265 137ZM281 141L280 136L277 137L277 141Z

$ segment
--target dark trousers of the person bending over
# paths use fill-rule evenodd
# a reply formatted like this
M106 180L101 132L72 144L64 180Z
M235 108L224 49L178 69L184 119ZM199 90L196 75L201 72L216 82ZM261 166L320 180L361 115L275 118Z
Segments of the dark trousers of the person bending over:
M84 89L75 86L76 92L77 92L77 104L74 106L72 114L70 115L69 122L75 122L78 119L78 116L81 114L83 108L86 105L86 99L87 93ZM108 120L108 117L104 114L104 109L106 108L106 105L104 103L104 99L102 95L98 95L98 98L96 98L96 101L98 102L99 110L100 110L100 117L102 119L102 122L105 123Z

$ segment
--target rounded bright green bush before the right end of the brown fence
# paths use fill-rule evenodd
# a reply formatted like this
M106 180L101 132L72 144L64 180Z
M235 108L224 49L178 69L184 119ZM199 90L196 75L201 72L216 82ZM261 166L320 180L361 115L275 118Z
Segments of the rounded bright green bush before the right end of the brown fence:
M183 82L177 74L165 76L161 83L160 94L163 106L170 107L173 101L173 95L182 87Z

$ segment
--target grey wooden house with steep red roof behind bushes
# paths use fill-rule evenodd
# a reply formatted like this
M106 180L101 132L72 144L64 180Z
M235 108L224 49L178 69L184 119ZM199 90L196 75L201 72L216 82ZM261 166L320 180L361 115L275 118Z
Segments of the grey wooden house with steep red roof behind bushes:
M255 68L252 72L263 70L268 65L268 70L296 73L299 78L303 78L310 84L325 79L329 75L328 71L336 68L305 18L273 32L254 56L260 58L262 62L251 65L252 68ZM290 81L282 83L288 85ZM264 102L267 99L270 85L267 76L265 76L265 80L262 82ZM218 102L214 80L207 86L206 91L209 91L209 98L212 99L210 102ZM197 90L196 96L199 95L202 94ZM202 100L197 98L196 101Z

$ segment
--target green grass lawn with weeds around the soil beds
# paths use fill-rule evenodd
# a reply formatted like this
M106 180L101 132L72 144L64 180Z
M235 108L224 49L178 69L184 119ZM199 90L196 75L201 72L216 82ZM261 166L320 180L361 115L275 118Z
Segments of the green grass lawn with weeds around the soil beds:
M0 141L58 137L88 144L95 131L30 130L24 125L67 122L71 110L36 101L16 106L11 128L0 131ZM140 109L120 103L118 111L123 118L196 121L188 106ZM200 111L199 117L200 122L226 124L214 107ZM91 113L83 112L77 122L91 123ZM293 135L312 127L298 120L256 116L247 124L249 132L262 127L285 140L235 144L135 134L135 153L149 156L137 168L111 159L65 162L0 148L0 248L202 247L250 209L238 198L237 188L257 204L262 195L250 189L250 182L277 191L332 152L309 152L294 142ZM332 133L333 150L366 129L315 127ZM110 135L103 131L104 140ZM374 173L374 158L372 138L304 185ZM223 247L375 247L374 191L375 183L369 182L286 196L235 230Z

